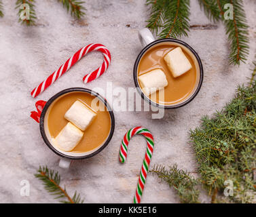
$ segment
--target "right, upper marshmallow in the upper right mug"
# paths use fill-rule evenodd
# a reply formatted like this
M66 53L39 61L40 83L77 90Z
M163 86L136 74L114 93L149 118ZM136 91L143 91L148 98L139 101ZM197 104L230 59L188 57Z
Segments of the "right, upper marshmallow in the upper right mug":
M183 54L181 47L177 47L168 52L168 54L164 56L164 60L173 77L179 77L192 68L187 56Z

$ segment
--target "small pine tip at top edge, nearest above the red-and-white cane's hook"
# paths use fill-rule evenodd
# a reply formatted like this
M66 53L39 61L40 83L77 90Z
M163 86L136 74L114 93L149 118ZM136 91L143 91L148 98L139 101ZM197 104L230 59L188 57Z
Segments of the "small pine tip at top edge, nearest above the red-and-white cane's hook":
M58 0L62 3L63 7L67 9L67 12L71 12L71 16L75 18L81 18L86 15L86 8L83 6L84 1L79 0Z

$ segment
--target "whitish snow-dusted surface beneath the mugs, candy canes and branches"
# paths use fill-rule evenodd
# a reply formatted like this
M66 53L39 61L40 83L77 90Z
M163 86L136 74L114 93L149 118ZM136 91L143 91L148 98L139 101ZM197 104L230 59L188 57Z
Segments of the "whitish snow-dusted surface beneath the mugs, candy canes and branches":
M251 76L255 54L254 0L246 0L251 39L247 64L228 64L228 45L222 24L211 23L198 2L191 1L191 32L183 40L198 52L204 64L204 83L198 96L187 106L166 111L163 119L151 119L150 112L115 111L115 133L107 148L91 159L75 161L70 170L58 168L59 158L43 142L39 125L29 117L36 100L30 96L33 87L50 75L69 56L88 43L103 43L113 60L105 75L84 85L82 77L102 62L102 55L89 54L62 76L37 100L48 100L68 87L102 87L107 81L114 87L133 87L132 67L141 50L137 31L145 26L149 9L145 1L86 1L87 16L77 21L67 15L54 0L36 1L37 26L21 26L17 22L15 1L3 0L5 17L0 19L0 202L55 203L33 174L39 165L58 170L62 185L69 193L75 190L86 203L130 203L136 189L145 140L136 136L130 142L127 162L120 165L120 142L126 130L134 125L148 127L156 140L152 165L162 163L196 174L196 161L188 132L200 124L202 115L221 109L233 96L238 84ZM31 186L30 196L20 195L22 180ZM202 195L202 200L208 198ZM156 176L147 177L143 203L176 203L179 199L168 185Z

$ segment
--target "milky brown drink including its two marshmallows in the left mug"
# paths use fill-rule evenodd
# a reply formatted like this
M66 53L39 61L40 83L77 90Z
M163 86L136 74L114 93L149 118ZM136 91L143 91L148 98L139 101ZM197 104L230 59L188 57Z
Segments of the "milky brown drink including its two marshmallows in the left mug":
M107 140L111 117L106 107L98 111L92 103L95 98L86 92L70 92L52 104L48 129L54 145L62 151L85 153Z

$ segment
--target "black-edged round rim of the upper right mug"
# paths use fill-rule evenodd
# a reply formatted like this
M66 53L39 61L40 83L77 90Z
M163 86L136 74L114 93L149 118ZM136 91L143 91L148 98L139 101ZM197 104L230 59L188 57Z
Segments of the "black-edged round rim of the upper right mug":
M189 49L192 52L192 54L194 54L194 56L196 57L196 60L198 61L198 65L199 65L199 68L200 68L200 79L199 79L198 86L196 87L196 91L189 98L187 98L187 100L185 100L184 102L181 102L180 104L175 104L175 105L166 104L166 105L164 105L164 104L158 104L156 102L153 102L152 100L147 98L147 96L145 96L145 94L142 92L141 87L139 86L138 79L137 79L137 68L139 66L139 62L140 62L141 57L143 56L143 54L145 54L145 52L147 52L147 50L150 47L152 47L153 45L156 45L157 43L161 43L161 42L164 42L164 41L179 43L179 44L187 47L187 49ZM202 81L204 80L204 69L203 69L203 66L202 66L201 59L198 56L198 54L196 53L196 51L192 47L190 47L187 43L185 43L184 41L181 41L179 39L170 39L170 38L168 38L168 39L157 39L156 41L152 41L151 43L146 45L143 48L143 50L141 50L139 55L137 56L137 58L135 60L135 63L134 63L134 67L133 67L133 79L134 79L134 84L135 84L136 90L141 95L141 98L143 98L143 100L148 102L150 105L153 105L153 106L155 106L157 108L160 108L160 109L178 109L182 106L185 106L186 104L188 104L192 100L194 100L194 98L198 95L198 92L200 91L200 89L202 87Z

